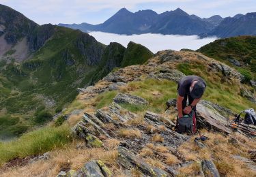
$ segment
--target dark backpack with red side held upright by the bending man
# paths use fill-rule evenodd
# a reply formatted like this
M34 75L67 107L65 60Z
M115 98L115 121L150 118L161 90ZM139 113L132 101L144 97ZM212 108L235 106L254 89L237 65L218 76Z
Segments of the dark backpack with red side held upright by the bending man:
M177 133L196 133L197 132L197 119L195 110L192 110L190 114L184 115L181 118L177 118L175 130Z

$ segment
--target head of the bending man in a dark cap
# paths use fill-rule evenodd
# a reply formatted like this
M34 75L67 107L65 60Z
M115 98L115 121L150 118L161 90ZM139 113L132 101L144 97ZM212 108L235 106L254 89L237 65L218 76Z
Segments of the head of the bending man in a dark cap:
M193 99L199 99L202 97L205 91L205 84L201 81L193 81L189 88L190 95Z

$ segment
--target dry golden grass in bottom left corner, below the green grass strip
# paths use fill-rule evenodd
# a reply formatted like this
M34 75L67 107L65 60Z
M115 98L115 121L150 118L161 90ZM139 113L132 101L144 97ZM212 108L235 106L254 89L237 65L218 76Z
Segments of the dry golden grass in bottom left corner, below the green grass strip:
M117 150L104 150L103 148L90 148L77 150L76 143L66 149L51 152L51 158L44 161L35 161L23 167L14 167L5 172L0 172L0 176L57 176L63 167L70 167L72 170L79 170L91 159L102 160L110 169L117 174L122 174L116 163Z

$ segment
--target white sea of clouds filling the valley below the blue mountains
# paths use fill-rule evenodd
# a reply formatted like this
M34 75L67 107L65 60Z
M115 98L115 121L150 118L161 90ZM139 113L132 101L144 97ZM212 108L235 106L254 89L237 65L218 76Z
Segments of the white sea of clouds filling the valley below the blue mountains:
M216 37L207 37L200 39L197 35L161 35L161 34L142 34L142 35L117 35L113 33L103 33L98 31L90 32L98 42L108 45L110 42L118 42L123 46L132 41L142 44L156 53L160 50L180 50L182 48L189 48L197 50L205 44L209 44L216 40Z

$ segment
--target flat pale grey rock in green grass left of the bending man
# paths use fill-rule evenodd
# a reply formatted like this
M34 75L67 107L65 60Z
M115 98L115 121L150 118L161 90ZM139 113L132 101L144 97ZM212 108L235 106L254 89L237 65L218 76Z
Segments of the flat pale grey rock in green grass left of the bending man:
M115 103L130 103L134 105L146 105L148 101L134 95L129 95L126 93L118 93L117 96L113 99Z

